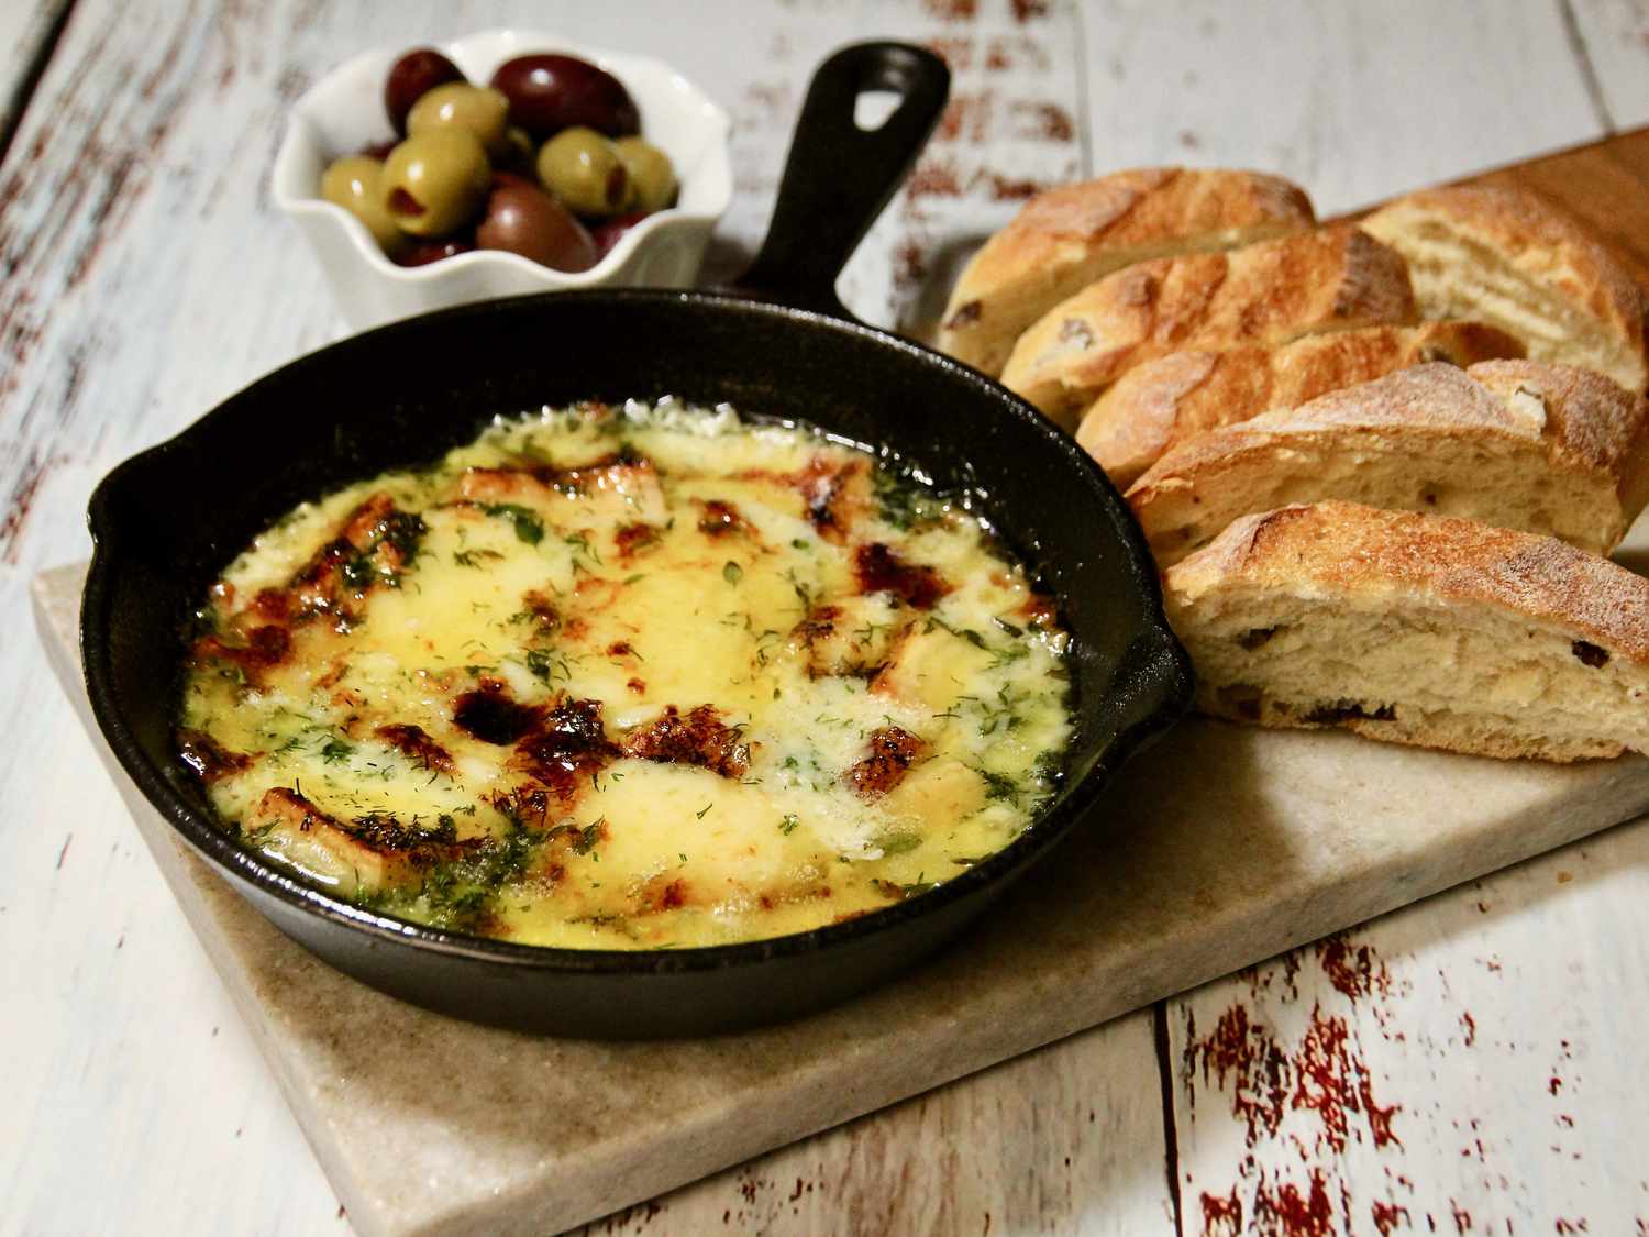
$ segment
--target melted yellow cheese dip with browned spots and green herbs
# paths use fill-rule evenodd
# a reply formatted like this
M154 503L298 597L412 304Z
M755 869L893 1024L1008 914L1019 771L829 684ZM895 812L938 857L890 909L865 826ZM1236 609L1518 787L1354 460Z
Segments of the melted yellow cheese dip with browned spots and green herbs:
M213 587L180 757L242 844L439 929L813 929L1052 793L1067 635L963 506L674 401L496 419L305 503Z

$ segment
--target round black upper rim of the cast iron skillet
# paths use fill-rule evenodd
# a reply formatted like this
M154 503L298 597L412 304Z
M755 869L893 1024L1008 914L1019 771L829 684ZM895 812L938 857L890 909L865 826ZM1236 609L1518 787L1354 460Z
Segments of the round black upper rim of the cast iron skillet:
M1151 694L1149 711L1133 726L1120 729L1113 741L1093 759L1092 765L1080 775L1072 777L1062 793L1055 795L1052 803L1034 816L1017 838L993 853L984 863L975 864L961 874L940 882L920 897L900 901L844 922L747 942L665 950L587 950L523 945L493 937L444 932L356 907L335 894L290 876L274 864L261 861L252 851L237 846L223 826L214 825L190 808L162 774L160 767L147 759L132 727L125 724L125 709L114 688L109 642L96 638L99 632L107 632L110 627L114 579L120 569L120 533L114 521L114 508L119 496L134 488L142 492L145 483L153 485L155 482L147 475L148 470L153 470L171 454L183 450L191 439L209 432L211 426L233 421L237 414L237 406L246 396L265 386L292 381L295 374L302 374L302 371L317 365L330 365L333 363L331 358L348 353L351 348L366 346L366 341L379 340L386 335L427 330L432 322L447 323L457 318L511 312L526 313L544 303L577 305L580 302L602 305L674 305L684 310L709 308L780 320L787 323L785 330L803 332L813 328L857 336L872 346L900 353L909 358L909 365L912 366L920 365L930 371L948 373L953 379L975 388L981 399L988 397L994 401L1003 412L1029 424L1032 430L1041 434L1055 449L1065 465L1075 470L1073 482L1098 501L1108 526L1120 541L1126 571L1136 589L1141 610L1141 630L1135 635L1128 650L1138 647L1146 638L1154 640L1154 647L1148 650L1149 661L1144 671L1148 681L1144 689ZM829 426L818 426L818 429L829 430ZM986 515L989 515L994 501L993 495L984 495L983 508ZM92 492L87 505L87 524L92 536L92 559L81 597L79 617L86 689L92 714L110 752L127 777L142 792L143 798L148 800L150 807L158 810L167 823L198 854L211 861L218 871L257 891L267 892L305 914L313 914L341 929L359 932L384 943L412 945L419 950L429 950L450 958L468 958L533 973L640 976L721 971L848 947L897 930L914 919L938 914L955 902L988 891L993 884L1004 889L1087 816L1100 798L1110 775L1121 764L1179 721L1189 706L1192 693L1191 660L1167 625L1161 582L1144 536L1110 478L1077 445L1075 439L1062 432L1042 412L994 379L920 343L818 310L727 292L663 289L539 292L455 305L345 336L256 378L171 437L117 463ZM1118 660L1118 668L1125 660L1126 655ZM1115 684L1105 691L1105 694L1115 693Z

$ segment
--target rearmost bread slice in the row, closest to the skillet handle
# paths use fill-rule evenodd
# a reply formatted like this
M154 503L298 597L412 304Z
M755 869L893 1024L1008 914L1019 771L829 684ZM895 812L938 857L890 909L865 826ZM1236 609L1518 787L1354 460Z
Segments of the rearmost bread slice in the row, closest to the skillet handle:
M1049 190L963 269L938 346L994 378L1026 327L1111 270L1314 223L1304 190L1258 172L1136 168Z

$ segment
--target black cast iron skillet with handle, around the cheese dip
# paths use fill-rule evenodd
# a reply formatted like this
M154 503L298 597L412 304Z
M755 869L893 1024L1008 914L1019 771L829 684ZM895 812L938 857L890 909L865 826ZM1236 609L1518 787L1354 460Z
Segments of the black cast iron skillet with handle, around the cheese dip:
M892 89L874 132L861 91ZM851 320L831 290L945 104L940 59L897 43L831 56L810 87L772 231L744 289L561 292L399 322L277 369L127 460L91 501L86 684L114 754L171 826L333 967L458 1018L577 1036L676 1036L790 1018L955 935L1097 811L1116 767L1186 708L1191 670L1156 572L1103 473L983 374ZM1004 851L937 891L773 940L651 953L437 932L353 907L237 848L171 745L180 633L234 554L307 498L430 462L495 412L674 394L879 444L970 492L1059 597L1078 726L1059 797Z

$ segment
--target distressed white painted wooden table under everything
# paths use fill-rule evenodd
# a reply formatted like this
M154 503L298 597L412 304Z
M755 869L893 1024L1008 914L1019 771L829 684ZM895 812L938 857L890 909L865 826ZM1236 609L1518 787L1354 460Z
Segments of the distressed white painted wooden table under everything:
M811 66L955 71L844 300L920 333L1034 186L1263 167L1324 214L1649 122L1649 3L0 3L0 1232L343 1230L30 632L117 460L341 328L274 214L290 101L503 23L669 59L735 117L709 275ZM1649 1232L1649 826L1629 825L592 1225Z

